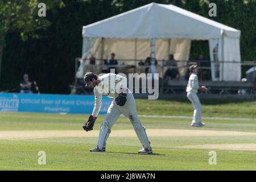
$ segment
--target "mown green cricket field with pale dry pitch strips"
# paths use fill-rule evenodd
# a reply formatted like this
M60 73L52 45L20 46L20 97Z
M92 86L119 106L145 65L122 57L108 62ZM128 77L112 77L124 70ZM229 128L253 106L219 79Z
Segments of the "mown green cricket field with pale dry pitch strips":
M155 103L161 102L168 108L164 109L160 104L156 111L155 105L147 104L153 111L144 113L142 106L146 102L147 100L137 101L139 114L167 115L174 113L179 107L174 102L156 101ZM240 104L241 107L247 105L249 110L253 110L252 103ZM189 103L179 104L188 108L187 113L183 111L183 115L192 113ZM238 107L234 104L227 105L229 108ZM227 105L218 106L219 109L227 111L223 111L225 114L212 113L212 116L237 115L228 111ZM254 114L250 113L247 117ZM107 152L89 152L89 148L94 147L97 142L98 130L104 116L97 119L94 131L89 133L82 131L81 127L87 118L88 115L0 113L0 169L256 170L255 119L205 119L206 126L195 129L189 126L191 119L142 117L154 155L140 155L137 151L141 149L141 144L125 117L119 118L114 125ZM217 165L208 163L209 151L212 150L217 152ZM46 152L46 165L38 164L39 151Z

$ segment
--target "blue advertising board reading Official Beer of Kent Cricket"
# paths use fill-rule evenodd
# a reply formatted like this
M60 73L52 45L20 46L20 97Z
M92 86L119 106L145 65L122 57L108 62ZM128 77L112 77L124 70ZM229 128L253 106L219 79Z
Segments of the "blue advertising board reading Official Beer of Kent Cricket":
M100 114L113 99L103 96ZM0 111L91 114L94 96L0 93Z

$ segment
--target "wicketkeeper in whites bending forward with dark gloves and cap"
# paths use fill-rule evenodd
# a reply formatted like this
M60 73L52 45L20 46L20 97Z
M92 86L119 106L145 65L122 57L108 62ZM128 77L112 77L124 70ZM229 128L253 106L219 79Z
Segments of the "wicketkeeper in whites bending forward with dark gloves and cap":
M90 151L105 152L106 141L108 140L111 129L119 116L123 114L130 120L143 146L142 150L138 152L141 154L152 154L146 130L142 126L137 114L133 93L127 88L127 78L114 73L98 76L92 72L88 72L85 74L84 80L87 85L94 88L93 92L95 96L93 113L90 115L88 122L83 126L85 131L93 130L94 122L101 109L102 95L114 98L112 104L109 106L106 118L101 125L97 147L90 149Z

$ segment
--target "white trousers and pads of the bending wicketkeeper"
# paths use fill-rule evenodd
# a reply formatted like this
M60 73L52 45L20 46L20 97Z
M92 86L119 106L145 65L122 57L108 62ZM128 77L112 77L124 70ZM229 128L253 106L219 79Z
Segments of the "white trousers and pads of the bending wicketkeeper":
M121 114L125 115L133 125L135 133L142 143L142 146L150 150L151 147L146 134L146 129L142 126L141 120L138 117L135 99L132 93L127 93L127 101L124 106L118 106L115 103L115 100L112 101L112 104L109 106L108 113L106 114L106 118L101 125L97 147L100 149L102 147L106 147L106 140L109 137L114 123Z

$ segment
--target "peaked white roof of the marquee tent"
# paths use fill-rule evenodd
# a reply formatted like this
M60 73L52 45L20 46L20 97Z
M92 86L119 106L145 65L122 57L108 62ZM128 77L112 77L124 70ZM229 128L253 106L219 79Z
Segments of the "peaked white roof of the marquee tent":
M210 39L222 34L240 38L241 32L180 7L155 2L83 27L84 37Z

